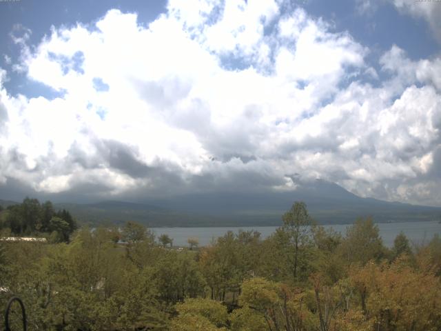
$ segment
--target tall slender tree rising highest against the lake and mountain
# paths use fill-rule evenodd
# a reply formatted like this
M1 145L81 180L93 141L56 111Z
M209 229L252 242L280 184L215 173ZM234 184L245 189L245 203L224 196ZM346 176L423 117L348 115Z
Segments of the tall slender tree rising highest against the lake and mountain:
M302 246L309 242L312 220L309 217L306 204L296 201L290 210L283 215L283 230L294 245L293 275L297 277L298 259Z

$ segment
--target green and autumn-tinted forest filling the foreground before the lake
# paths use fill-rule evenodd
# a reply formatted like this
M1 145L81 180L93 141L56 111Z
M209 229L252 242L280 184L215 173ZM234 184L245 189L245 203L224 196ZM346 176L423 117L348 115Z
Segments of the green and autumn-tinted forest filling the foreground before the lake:
M76 228L34 199L3 210L1 227L50 239L0 241L0 306L20 297L28 330L441 330L438 235L399 234L387 248L373 219L341 235L302 202L267 239L227 232L201 248L132 221ZM12 330L19 314L14 305Z

